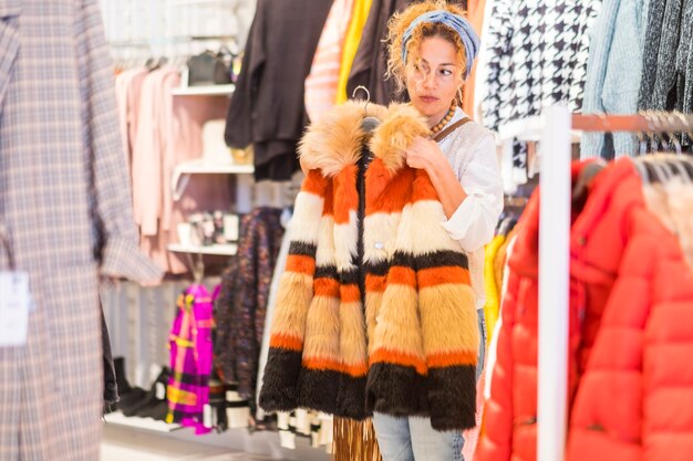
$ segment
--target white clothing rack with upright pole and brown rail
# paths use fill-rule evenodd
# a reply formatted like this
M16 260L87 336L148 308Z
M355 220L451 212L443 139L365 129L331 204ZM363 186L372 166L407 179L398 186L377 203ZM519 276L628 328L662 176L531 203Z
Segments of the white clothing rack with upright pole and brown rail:
M537 461L563 461L568 423L568 308L570 281L570 143L576 130L690 133L693 116L680 113L635 115L571 114L565 105L541 117L513 122L505 142L539 140L539 350ZM550 281L550 283L541 283Z

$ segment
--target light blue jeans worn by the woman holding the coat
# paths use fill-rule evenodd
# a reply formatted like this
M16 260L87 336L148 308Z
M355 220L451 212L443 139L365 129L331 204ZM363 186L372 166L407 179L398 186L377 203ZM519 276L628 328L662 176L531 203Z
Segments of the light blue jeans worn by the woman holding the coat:
M479 355L476 379L479 379L486 356L486 316L478 310ZM383 461L464 461L462 432L439 432L430 418L373 413L375 437Z

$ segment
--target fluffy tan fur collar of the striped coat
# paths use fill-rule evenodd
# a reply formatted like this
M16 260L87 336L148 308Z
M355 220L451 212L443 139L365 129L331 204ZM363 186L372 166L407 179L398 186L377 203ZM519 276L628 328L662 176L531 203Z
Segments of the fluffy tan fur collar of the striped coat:
M355 165L368 136L361 128L364 114L381 121L369 140L369 148L393 175L405 165L404 151L414 138L428 134L425 118L410 104L393 103L385 107L350 101L308 128L299 145L303 166L334 177L346 166Z

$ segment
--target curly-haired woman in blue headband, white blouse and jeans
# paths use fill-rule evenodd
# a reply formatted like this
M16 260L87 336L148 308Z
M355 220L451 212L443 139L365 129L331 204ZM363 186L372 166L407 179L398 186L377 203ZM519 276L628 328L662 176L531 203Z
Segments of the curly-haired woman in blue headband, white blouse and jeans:
M416 3L390 22L389 73L406 88L412 105L423 114L431 137L417 137L406 150L406 163L431 177L447 222L445 230L469 256L472 286L482 331L484 326L484 245L490 241L503 210L503 186L493 134L468 122L437 143L432 138L467 118L459 108L462 86L469 75L479 40L464 12L444 2ZM478 370L477 370L478 376ZM462 434L439 432L428 418L373 416L384 461L462 459Z

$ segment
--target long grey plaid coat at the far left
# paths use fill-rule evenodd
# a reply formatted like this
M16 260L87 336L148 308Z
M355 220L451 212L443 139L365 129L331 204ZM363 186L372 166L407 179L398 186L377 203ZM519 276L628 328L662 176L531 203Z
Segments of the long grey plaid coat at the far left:
M96 0L0 0L0 223L35 304L25 347L0 347L0 460L97 460L99 275L161 273L137 251Z

